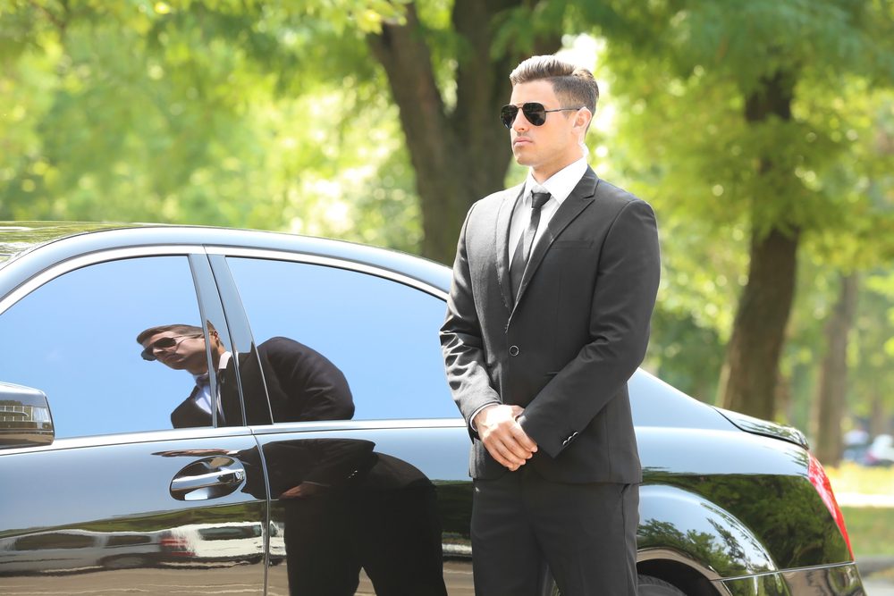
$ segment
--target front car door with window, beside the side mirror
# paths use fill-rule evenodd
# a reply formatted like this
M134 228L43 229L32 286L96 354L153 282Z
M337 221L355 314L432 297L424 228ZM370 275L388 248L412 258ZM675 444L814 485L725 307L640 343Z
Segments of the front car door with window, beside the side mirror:
M0 298L0 382L43 391L55 428L0 448L0 593L264 593L266 494L235 457L257 452L238 387L224 423L211 375L207 422L174 428L197 378L136 340L172 323L232 350L201 248L80 256Z

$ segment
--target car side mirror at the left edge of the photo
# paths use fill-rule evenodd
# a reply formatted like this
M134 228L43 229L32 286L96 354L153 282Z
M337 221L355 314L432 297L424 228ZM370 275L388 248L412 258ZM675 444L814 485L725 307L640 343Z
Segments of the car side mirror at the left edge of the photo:
M0 449L49 445L55 438L46 394L0 382Z

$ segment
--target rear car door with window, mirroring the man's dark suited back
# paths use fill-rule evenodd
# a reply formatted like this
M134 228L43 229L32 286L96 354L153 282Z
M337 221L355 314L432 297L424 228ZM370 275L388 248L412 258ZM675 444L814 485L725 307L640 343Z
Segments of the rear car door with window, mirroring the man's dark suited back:
M249 419L277 533L270 591L474 593L468 432L437 336L443 290L322 256L208 251L262 373L241 374L247 410L252 394L271 404L272 420Z

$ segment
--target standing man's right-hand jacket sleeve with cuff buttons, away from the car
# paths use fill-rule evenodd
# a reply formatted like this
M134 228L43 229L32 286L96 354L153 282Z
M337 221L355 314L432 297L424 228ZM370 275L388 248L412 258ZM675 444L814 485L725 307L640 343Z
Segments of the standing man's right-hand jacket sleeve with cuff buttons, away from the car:
M661 275L651 206L635 199L620 210L596 266L589 341L519 417L525 432L551 457L624 388L645 357Z

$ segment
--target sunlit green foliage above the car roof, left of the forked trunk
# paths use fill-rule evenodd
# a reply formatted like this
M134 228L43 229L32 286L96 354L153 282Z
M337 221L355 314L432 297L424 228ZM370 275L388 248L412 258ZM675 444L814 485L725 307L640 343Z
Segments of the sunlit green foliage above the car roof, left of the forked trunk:
M416 248L397 114L353 32L372 4L336 4L3 4L0 216Z

